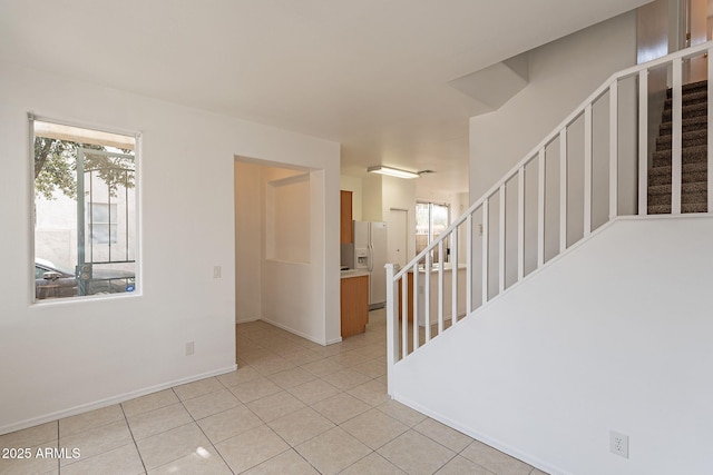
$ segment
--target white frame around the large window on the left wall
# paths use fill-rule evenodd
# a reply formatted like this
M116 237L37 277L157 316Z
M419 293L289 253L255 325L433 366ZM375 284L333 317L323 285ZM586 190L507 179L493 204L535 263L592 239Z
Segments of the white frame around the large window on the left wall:
M141 259L141 249L143 249L143 206L141 206L141 157L143 157L143 135L140 131L134 129L121 129L116 127L105 127L105 126L96 126L88 125L85 122L77 122L71 120L62 120L56 119L48 116L40 116L33 112L28 112L28 195L27 195L27 216L28 216L28 269L32 269L32 275L28 279L28 293L29 293L29 303L30 305L62 305L68 303L80 303L80 301L94 301L98 299L114 299L114 298L136 298L140 297L144 294L144 279L143 279L143 259ZM124 137L130 137L134 139L134 200L135 200L135 217L131 220L134 222L134 283L133 289L130 291L124 293L114 293L114 294L94 294L94 295L82 295L82 296L74 296L74 297L62 297L62 298L37 298L37 284L36 284L36 222L37 222L37 209L36 209L36 179L35 179L35 123L36 122L45 122L50 125L57 125L62 127L74 127L79 129L85 129L88 131L99 132L99 133L110 133ZM91 239L91 237L90 237ZM127 280L128 283L128 280ZM138 284L138 285L137 285Z

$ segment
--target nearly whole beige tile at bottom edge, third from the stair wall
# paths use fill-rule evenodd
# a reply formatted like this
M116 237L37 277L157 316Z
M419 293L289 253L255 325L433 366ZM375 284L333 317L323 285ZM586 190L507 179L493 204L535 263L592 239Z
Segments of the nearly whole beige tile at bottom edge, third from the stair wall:
M371 453L371 449L339 427L295 447L321 474L336 474Z

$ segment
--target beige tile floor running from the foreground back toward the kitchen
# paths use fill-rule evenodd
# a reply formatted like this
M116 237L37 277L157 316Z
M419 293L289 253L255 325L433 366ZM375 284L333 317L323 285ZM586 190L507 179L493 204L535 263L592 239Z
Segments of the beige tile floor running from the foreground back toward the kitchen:
M383 310L328 347L263 321L236 339L237 372L0 436L32 455L0 474L543 474L387 397Z

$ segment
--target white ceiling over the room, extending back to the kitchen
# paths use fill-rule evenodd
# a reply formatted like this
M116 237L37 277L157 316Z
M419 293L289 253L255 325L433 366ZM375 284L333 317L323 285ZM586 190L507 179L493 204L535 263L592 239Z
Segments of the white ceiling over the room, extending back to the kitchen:
M0 60L342 144L468 190L449 86L648 0L0 0Z

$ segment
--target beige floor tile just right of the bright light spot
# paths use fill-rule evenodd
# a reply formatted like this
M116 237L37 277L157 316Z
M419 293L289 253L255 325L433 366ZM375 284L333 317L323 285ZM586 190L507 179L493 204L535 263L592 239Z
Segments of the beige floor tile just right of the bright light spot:
M287 451L290 446L267 426L223 441L216 448L233 472L241 473Z

